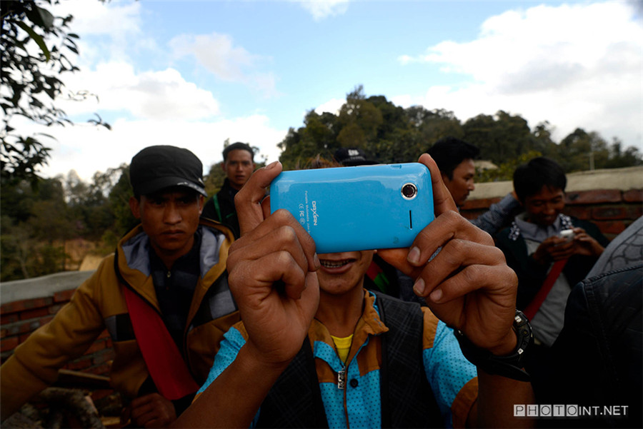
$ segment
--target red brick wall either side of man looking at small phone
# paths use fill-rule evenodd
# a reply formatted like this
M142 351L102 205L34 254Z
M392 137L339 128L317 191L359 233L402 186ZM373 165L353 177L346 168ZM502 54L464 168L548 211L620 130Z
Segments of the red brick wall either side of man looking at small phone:
M460 213L469 219L477 218L501 197L469 198ZM643 216L643 189L599 189L567 191L564 213L595 223L612 240L630 223Z

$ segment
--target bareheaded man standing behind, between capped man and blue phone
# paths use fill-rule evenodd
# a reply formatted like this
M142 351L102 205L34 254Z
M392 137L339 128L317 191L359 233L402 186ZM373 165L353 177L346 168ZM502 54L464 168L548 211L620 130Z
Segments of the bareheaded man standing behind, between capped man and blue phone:
M221 168L226 172L226 179L221 190L205 203L201 216L223 223L239 238L234 196L254 171L254 151L249 144L237 141L224 148L223 157Z

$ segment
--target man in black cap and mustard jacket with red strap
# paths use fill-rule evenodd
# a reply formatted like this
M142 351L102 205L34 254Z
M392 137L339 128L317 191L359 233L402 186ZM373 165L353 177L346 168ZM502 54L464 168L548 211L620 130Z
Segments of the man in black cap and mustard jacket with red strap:
M129 171L129 206L141 224L2 365L1 420L54 383L58 369L107 329L111 384L129 402L124 420L166 427L189 405L222 335L239 321L226 276L234 237L199 220L206 196L199 158L151 146L132 158Z

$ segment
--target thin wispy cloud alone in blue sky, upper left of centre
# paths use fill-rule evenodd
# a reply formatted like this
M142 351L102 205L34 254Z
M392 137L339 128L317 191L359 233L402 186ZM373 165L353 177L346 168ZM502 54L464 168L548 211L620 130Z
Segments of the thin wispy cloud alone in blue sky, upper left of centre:
M268 95L275 93L274 76L256 71L261 61L265 61L264 57L250 54L243 46L235 46L226 34L181 34L169 41L169 47L174 58L194 56L223 81L249 84Z

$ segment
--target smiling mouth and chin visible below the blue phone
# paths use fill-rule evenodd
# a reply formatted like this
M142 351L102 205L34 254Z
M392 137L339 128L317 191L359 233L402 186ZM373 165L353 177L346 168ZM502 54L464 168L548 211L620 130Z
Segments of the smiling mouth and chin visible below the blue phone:
M322 292L342 295L354 288L362 288L364 275L373 261L374 251L320 253L321 268L317 280Z

